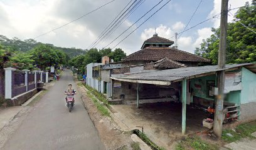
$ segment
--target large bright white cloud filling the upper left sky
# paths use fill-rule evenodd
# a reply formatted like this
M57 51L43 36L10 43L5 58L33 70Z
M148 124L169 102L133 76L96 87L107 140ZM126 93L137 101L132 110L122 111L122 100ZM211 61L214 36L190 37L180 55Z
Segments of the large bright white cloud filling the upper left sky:
M51 29L54 29L55 27L62 26L77 17L83 16L83 14L92 11L104 3L105 1L93 0L0 1L0 33L9 38L14 36L19 37L20 39L33 38L51 31ZM112 2L104 8L101 8L99 11L95 11L78 21L50 32L45 36L38 37L36 40L55 44L56 46L80 47L85 49L119 13L113 8L123 8L124 6L125 4L123 1ZM126 20L117 31L113 32L110 38L101 43L101 46L106 46L110 42L110 39L117 37L120 32L127 29L131 24L132 22ZM127 32L131 32L132 29L134 29L134 27L131 27ZM135 36L136 34L132 34L131 37L125 40L125 42L134 45L134 41L136 41ZM110 45L110 47L117 44L120 39ZM100 45L97 47L99 46ZM124 51L125 49L131 49L130 46L123 43L117 47L121 46Z

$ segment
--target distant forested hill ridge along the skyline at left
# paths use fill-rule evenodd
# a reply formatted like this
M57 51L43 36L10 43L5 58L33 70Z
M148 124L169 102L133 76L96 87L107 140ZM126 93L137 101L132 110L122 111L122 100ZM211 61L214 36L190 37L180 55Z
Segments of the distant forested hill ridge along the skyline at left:
M22 41L18 37L13 37L13 39L9 39L6 36L0 35L0 44L3 46L8 46L15 51L26 52L26 51L33 49L38 44L42 44L42 43L37 42L34 39L26 39L26 40ZM54 46L53 44L47 44L47 45L53 46L55 49L59 49L59 50L63 51L64 53L67 53L68 56L70 56L70 58L73 58L75 56L86 53L86 51L83 49L77 49L77 48L73 48L73 47L72 48L57 47L57 46Z

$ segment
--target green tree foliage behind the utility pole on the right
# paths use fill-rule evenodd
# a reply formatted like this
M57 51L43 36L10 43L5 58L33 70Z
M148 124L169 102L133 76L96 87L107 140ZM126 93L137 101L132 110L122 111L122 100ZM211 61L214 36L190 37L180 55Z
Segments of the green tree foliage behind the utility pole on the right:
M256 61L256 34L245 26L256 28L256 1L245 4L235 13L233 22L228 23L227 29L227 63L251 63ZM242 24L240 23L242 22ZM218 63L218 49L220 42L220 27L212 29L213 34L204 39L195 54L211 59L213 64Z

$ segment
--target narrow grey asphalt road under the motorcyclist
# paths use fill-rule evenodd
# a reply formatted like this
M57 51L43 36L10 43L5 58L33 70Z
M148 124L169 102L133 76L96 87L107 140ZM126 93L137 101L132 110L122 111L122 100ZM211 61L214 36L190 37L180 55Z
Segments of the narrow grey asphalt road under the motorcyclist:
M4 150L105 149L79 93L72 113L68 112L64 95L68 83L76 89L72 72L64 71L60 81L41 98L4 145Z

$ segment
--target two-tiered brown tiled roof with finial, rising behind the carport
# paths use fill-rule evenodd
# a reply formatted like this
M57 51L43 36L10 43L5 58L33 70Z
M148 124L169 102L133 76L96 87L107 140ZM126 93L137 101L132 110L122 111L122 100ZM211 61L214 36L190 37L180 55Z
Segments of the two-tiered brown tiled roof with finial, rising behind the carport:
M209 59L169 47L173 43L174 42L169 39L154 34L151 38L144 41L140 51L130 54L123 61L129 62L129 66L149 64L151 62L160 61L163 58L168 58L172 64L180 63L188 67L198 66L200 63L210 63Z

